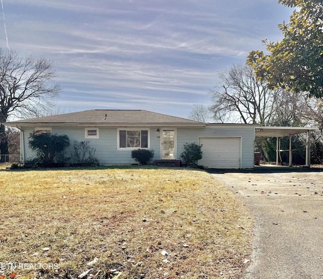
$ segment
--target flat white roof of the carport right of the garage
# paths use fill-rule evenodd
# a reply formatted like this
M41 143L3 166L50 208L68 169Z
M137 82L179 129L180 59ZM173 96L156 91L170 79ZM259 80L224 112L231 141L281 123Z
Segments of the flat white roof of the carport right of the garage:
M255 126L256 136L283 137L297 133L304 133L309 130L317 130L317 127L271 127Z

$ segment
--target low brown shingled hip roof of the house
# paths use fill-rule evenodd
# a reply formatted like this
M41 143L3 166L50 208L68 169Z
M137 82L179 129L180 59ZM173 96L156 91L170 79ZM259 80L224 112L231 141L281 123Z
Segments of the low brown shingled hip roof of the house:
M158 126L205 126L206 123L147 110L85 110L80 112L30 118L4 123L6 126L52 125L52 126L116 126L116 125L158 125Z

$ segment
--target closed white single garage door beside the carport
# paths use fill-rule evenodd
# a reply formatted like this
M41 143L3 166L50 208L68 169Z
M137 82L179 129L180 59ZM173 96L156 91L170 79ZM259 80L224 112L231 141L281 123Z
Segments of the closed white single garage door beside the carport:
M240 137L200 137L203 157L198 164L214 169L240 169Z

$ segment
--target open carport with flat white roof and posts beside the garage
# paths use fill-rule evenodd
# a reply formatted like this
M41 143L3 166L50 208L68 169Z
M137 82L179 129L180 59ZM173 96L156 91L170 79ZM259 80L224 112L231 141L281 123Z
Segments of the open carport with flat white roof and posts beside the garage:
M299 133L306 133L306 147L305 147L305 166L310 167L310 144L311 144L311 131L316 130L316 127L269 127L269 126L256 126L255 136L262 137L276 137L276 165L279 164L280 138L289 137L289 166L292 166L292 136ZM284 150L286 151L286 150Z

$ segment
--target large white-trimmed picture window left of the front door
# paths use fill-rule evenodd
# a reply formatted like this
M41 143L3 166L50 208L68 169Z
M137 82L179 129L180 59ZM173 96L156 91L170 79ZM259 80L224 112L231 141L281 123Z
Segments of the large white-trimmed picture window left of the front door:
M118 149L149 148L148 129L119 129Z

